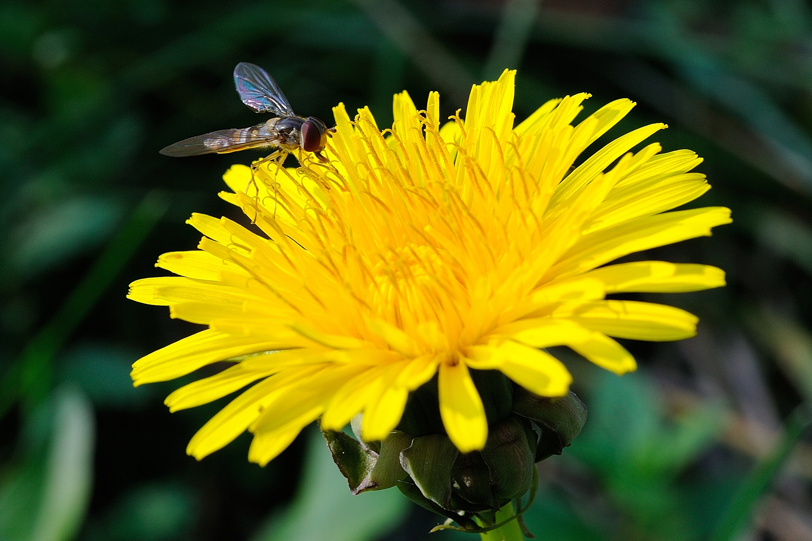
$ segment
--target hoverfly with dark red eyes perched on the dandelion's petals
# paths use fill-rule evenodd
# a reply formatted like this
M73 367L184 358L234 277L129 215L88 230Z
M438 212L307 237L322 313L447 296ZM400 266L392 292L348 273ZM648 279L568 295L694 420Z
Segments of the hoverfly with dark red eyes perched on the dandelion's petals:
M267 71L254 64L240 62L234 68L234 84L245 105L257 113L274 114L274 118L252 127L212 131L190 137L162 148L160 152L165 156L186 157L236 152L246 148L277 148L270 156L255 162L256 166L275 159L279 159L281 164L289 152L301 148L313 152L320 161L327 161L322 150L335 128L328 130L325 123L316 117L296 115Z

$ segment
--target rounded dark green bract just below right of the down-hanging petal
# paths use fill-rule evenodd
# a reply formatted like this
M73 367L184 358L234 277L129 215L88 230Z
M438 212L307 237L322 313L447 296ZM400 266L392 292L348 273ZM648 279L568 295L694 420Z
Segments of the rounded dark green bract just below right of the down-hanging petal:
M490 472L493 495L512 500L525 494L533 481L534 458L519 419L508 417L490 427L482 460Z

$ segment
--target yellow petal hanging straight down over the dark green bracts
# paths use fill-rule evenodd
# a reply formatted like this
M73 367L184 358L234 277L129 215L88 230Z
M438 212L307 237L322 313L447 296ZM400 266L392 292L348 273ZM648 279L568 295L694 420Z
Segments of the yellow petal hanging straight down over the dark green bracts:
M488 437L485 407L465 363L453 366L440 363L438 390L440 416L451 442L462 453L485 447Z

